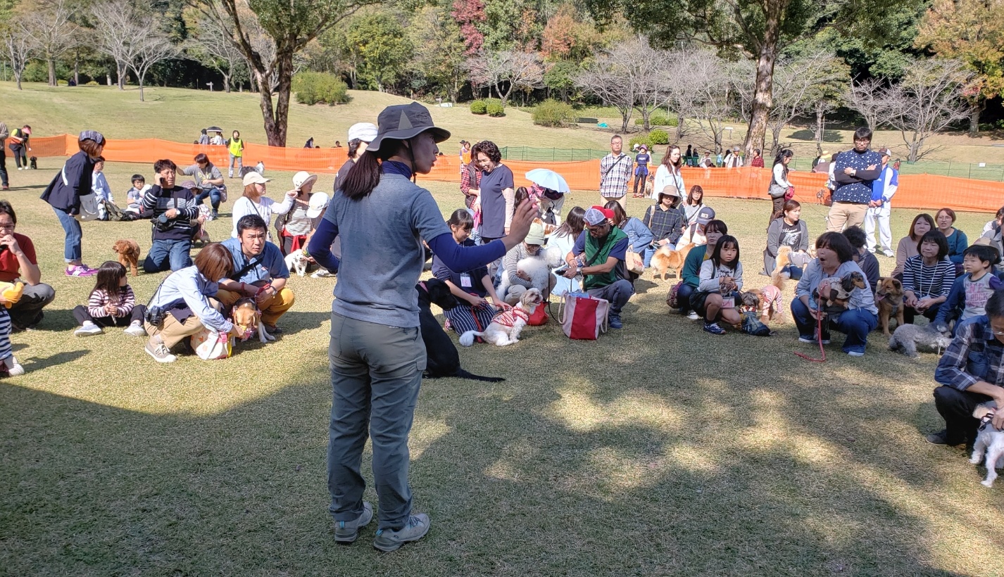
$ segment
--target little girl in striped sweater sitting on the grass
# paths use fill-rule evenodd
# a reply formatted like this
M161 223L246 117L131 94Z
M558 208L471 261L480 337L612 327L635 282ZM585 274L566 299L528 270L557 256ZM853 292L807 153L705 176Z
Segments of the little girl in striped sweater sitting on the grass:
M124 326L128 335L147 336L143 328L146 313L146 306L136 304L133 287L127 282L126 267L115 261L105 261L97 269L97 284L90 291L87 306L78 305L73 309L73 318L80 323L73 334L100 334L103 326Z

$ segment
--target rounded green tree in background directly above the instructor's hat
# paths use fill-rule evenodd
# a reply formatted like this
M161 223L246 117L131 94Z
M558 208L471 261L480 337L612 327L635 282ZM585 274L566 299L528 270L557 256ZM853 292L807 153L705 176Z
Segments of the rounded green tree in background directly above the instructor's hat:
M405 28L383 12L353 18L345 40L347 50L357 57L356 74L381 92L401 77L412 57Z

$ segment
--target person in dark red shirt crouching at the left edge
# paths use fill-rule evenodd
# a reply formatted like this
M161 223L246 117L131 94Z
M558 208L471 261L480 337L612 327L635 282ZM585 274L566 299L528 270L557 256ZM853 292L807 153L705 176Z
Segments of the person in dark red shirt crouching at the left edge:
M34 328L42 309L56 298L56 291L42 282L42 271L31 239L14 232L17 215L7 201L0 201L0 282L24 283L21 299L10 307L11 328Z

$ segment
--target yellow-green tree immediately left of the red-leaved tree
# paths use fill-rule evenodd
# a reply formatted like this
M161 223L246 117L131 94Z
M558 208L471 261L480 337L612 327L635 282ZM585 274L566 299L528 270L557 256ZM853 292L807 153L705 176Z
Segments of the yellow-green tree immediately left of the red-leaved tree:
M467 46L460 26L445 8L424 6L412 19L409 34L415 47L414 65L456 102L466 79Z

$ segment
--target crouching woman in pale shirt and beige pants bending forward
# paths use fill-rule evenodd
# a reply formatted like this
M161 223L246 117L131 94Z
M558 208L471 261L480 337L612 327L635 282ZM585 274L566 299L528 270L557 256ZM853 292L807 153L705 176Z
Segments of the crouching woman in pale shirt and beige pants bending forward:
M195 265L171 273L154 292L150 309L160 307L164 319L159 325L146 322L150 338L147 354L157 362L174 362L171 348L185 337L203 327L220 334L237 334L237 328L220 314L220 303L215 298L221 280L234 273L234 259L220 243L210 243L195 257ZM149 315L148 315L149 317Z

